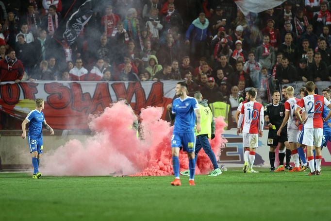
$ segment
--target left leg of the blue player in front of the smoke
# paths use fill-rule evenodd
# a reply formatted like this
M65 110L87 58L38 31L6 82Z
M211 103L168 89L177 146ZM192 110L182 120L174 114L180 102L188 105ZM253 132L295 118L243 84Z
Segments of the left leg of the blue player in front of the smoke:
M179 151L182 146L181 137L179 135L172 135L171 137L171 154L172 154L172 168L174 170L175 180L171 182L173 186L181 186L179 177Z

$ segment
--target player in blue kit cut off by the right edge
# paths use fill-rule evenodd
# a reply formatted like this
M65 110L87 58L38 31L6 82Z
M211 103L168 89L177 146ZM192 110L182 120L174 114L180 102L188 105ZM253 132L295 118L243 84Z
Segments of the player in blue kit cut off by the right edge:
M330 88L323 89L322 94L328 101L331 101L331 90L330 90ZM324 105L322 118L325 119L328 116L329 112L330 112L330 108ZM323 121L323 136L322 136L321 149L323 147L327 146L328 141L331 142L331 127L330 127L330 125L331 125L331 118L329 118L328 120Z

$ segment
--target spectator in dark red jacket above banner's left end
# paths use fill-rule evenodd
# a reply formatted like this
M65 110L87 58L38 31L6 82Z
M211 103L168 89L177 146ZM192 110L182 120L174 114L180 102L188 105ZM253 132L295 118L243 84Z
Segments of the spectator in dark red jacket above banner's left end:
M0 61L0 82L15 81L15 83L18 83L23 74L22 62L16 58L14 50L9 51L5 59Z

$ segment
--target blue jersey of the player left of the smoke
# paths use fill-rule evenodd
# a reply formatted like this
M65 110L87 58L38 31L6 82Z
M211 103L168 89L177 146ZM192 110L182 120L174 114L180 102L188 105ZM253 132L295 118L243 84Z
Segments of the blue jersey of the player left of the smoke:
M28 135L33 137L41 137L43 122L45 121L44 113L33 110L28 114L26 119L30 122Z

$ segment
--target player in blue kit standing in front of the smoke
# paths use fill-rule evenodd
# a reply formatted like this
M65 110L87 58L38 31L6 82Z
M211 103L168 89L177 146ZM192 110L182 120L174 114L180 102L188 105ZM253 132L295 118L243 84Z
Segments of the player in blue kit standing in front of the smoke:
M179 82L176 85L176 98L172 104L167 105L167 109L171 109L171 119L175 119L174 131L171 137L171 153L172 166L175 174L175 180L171 182L172 186L181 186L179 177L179 151L181 147L187 152L189 159L190 179L189 185L195 186L194 173L196 170L195 146L196 136L194 127L196 126L197 133L200 132L200 112L198 101L195 98L187 96L187 85L185 82ZM196 124L197 121L197 124Z

